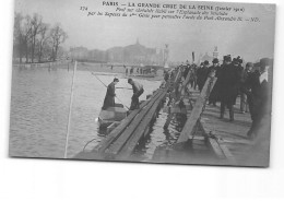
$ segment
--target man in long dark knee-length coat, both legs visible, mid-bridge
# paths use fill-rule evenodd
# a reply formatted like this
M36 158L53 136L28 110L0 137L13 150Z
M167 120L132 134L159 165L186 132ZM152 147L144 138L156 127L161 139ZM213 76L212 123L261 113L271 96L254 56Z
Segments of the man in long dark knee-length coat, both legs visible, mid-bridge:
M240 74L238 69L232 64L230 56L224 57L224 64L218 75L220 80L220 118L224 118L225 107L229 110L229 121L234 121L234 105L238 95Z

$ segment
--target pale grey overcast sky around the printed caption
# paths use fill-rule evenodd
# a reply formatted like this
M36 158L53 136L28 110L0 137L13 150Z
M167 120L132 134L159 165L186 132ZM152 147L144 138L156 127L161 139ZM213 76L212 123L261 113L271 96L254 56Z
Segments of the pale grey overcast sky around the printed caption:
M235 4L245 8L241 16L258 16L260 23L209 22L190 20L149 20L139 17L86 16L80 7L88 11L114 11L103 7L100 0L15 0L15 11L23 14L39 13L46 23L59 22L68 33L66 48L84 46L88 49L107 49L114 46L140 44L163 48L169 44L169 59L185 61L191 52L212 55L218 47L224 54L241 56L247 61L273 57L274 7L263 4ZM123 2L123 1L119 1ZM129 1L125 1L129 2ZM141 2L133 0L131 2ZM150 2L150 1L143 1ZM163 2L163 1L156 1ZM173 1L177 3L177 1ZM228 5L232 3L187 2L188 4Z

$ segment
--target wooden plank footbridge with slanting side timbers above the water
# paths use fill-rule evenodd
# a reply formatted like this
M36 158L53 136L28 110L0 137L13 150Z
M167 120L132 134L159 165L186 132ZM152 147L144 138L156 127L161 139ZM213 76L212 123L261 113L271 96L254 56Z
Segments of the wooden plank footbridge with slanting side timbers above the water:
M165 128L178 114L187 121L178 140L170 146L158 146L153 163L249 165L246 153L253 149L246 137L250 128L249 114L235 114L235 121L220 119L220 107L206 105L216 82L210 76L201 93L188 87L190 72L181 82L181 69L174 71L147 100L140 105L116 127L91 152L81 152L74 158L98 161L133 161L131 156L140 140L150 134L150 126L162 107L168 110Z

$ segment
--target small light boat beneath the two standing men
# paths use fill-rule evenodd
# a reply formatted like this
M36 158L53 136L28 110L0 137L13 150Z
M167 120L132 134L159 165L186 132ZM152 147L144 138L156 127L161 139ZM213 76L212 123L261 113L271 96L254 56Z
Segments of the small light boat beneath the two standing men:
M127 117L128 110L123 108L123 105L116 104L115 107L102 109L98 115L99 129L106 129L111 123L119 123Z

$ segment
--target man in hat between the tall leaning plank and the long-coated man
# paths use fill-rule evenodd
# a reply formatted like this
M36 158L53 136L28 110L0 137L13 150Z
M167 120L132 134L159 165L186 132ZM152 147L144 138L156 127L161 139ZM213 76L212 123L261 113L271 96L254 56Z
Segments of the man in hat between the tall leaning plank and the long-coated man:
M221 71L221 68L218 66L218 59L214 58L212 62L213 62L213 66L211 66L209 68L210 73L213 73L213 74L215 74L216 78L218 78L218 74ZM217 93L218 87L220 87L220 82L217 80L209 96L209 105L213 104L213 106L216 106L216 102L218 100L218 93Z

